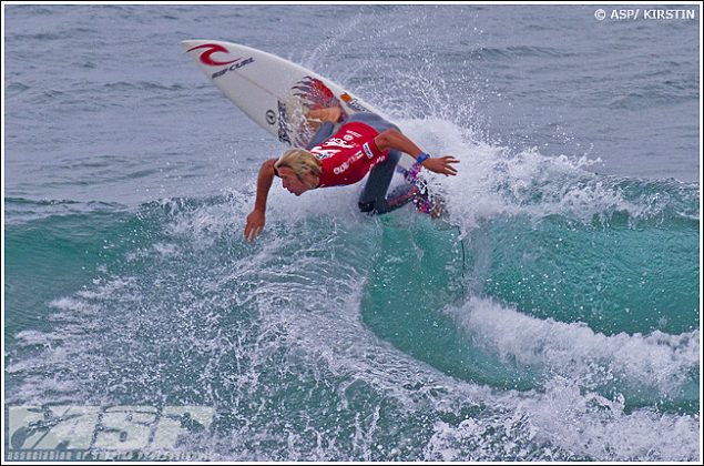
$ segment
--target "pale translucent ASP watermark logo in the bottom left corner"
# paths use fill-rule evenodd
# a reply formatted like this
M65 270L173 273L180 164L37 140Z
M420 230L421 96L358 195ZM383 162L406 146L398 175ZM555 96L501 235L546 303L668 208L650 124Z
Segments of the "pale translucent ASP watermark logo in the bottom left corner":
M207 432L214 414L207 406L9 407L4 459L197 459L176 450Z

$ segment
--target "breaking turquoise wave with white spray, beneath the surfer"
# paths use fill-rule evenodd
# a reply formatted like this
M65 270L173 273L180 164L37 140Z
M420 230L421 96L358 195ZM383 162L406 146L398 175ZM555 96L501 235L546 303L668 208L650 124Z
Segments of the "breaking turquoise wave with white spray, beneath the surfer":
M469 223L462 209L486 199L456 200L442 221L410 207L369 219L345 196L324 213L316 199L279 199L255 244L233 227L244 196L136 211L6 200L19 219L6 227L8 396L213 406L208 445L231 454L233 433L314 425L354 438L364 416L384 442L418 440L405 458L426 458L438 426L468 419L486 448L510 424L516 458L600 457L584 453L598 427L562 445L577 440L549 421L555 406L628 432L645 416L665 438L700 406L698 194L554 180L524 191L493 180L499 207ZM564 204L558 186L615 201ZM537 443L537 425L561 435ZM355 445L327 457L368 456ZM453 452L472 457L468 445ZM266 452L288 457L276 442Z

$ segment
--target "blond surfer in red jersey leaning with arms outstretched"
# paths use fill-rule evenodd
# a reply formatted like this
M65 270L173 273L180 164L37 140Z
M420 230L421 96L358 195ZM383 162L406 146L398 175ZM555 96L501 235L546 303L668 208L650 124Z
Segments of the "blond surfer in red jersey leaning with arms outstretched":
M427 199L419 199L427 193L415 184L404 184L387 197L401 152L416 159L411 170L422 166L446 176L457 174L452 164L459 163L459 160L450 155L431 158L397 126L375 113L359 112L347 116L340 107L334 107L310 111L306 116L318 124L306 149L286 151L278 159L265 161L259 169L254 210L247 215L244 230L249 241L264 229L266 197L274 176L278 176L282 185L298 196L318 188L354 184L369 173L359 197L359 210L384 214L409 201L415 201L417 206L428 204ZM426 207L425 212L433 214L432 207Z

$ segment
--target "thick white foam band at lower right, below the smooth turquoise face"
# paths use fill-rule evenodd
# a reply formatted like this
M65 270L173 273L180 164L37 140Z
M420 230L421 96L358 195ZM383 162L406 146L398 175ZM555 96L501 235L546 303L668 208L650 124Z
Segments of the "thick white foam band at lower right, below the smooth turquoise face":
M582 323L535 318L479 297L446 312L475 344L503 361L540 368L548 378L568 377L586 388L620 379L632 389L650 387L659 396L675 396L700 364L697 330L681 335L604 335Z

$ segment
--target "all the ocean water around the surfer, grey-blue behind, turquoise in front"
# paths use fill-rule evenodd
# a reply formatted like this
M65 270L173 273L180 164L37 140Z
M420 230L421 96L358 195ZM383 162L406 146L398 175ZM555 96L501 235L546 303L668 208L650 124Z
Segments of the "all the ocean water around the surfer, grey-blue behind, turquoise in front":
M6 414L200 409L165 454L207 460L701 460L700 10L596 8L3 6ZM185 39L459 158L448 217L274 186L245 242L283 146ZM134 416L110 448L160 452Z

